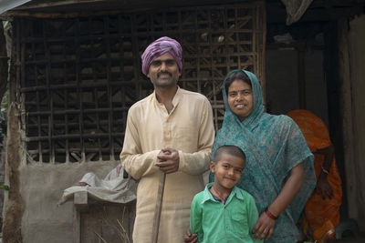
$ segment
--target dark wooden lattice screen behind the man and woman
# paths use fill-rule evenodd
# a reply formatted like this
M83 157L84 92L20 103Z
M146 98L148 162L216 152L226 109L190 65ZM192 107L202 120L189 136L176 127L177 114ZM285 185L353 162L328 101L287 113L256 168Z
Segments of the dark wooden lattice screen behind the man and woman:
M141 53L162 35L183 46L180 86L207 96L215 128L231 69L263 80L264 5L16 19L16 81L28 161L118 160L129 107L152 91Z

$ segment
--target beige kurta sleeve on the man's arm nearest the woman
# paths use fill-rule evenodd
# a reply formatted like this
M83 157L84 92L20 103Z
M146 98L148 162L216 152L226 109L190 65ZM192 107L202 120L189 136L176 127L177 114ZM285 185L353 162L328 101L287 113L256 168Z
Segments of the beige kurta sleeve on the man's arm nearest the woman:
M203 110L196 116L201 120L198 149L195 153L179 151L179 170L190 175L200 175L209 169L214 143L213 111L207 99L204 99Z

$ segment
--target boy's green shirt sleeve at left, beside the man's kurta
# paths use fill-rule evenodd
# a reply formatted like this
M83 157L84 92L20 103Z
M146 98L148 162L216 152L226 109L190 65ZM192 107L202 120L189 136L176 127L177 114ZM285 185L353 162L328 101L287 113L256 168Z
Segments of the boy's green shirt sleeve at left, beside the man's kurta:
M199 195L193 198L192 209L190 212L190 230L192 234L197 234L198 242L203 242L203 208L198 199Z

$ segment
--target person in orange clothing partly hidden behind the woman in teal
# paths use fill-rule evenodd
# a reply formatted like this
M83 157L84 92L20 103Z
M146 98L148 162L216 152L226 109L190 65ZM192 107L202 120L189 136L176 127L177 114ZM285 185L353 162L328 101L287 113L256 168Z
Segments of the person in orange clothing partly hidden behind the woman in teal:
M306 204L305 222L308 223L312 237L318 243L335 242L342 188L328 129L318 116L308 110L294 110L287 116L293 118L300 127L310 151L315 156L317 187Z

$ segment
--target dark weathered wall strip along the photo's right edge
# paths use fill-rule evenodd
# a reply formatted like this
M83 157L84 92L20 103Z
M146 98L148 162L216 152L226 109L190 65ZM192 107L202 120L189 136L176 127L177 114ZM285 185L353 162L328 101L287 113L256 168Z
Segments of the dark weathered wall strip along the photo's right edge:
M339 21L339 77L349 218L365 232L365 15Z

